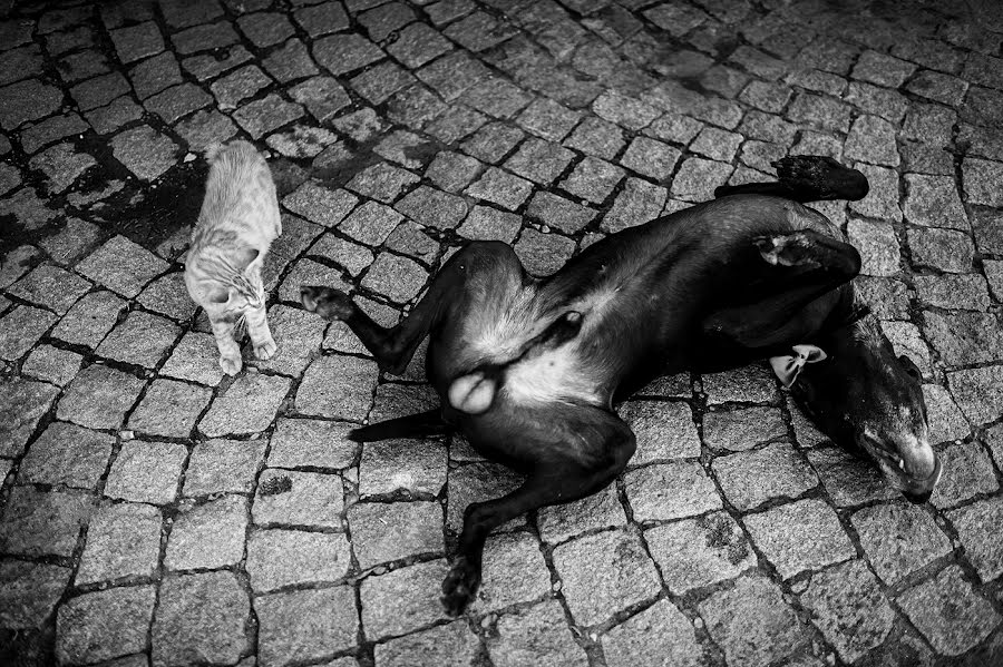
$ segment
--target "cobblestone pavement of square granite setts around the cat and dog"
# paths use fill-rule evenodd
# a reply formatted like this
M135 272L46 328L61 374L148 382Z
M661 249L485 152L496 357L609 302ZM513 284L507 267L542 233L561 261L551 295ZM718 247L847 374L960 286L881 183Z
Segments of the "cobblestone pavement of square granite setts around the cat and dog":
M10 4L3 664L1003 664L993 0ZM202 151L237 136L270 150L285 233L281 352L231 379L179 257ZM801 153L870 178L820 209L923 369L931 504L765 367L669 377L620 409L639 451L616 484L493 536L478 600L445 617L465 506L517 478L460 439L348 441L435 399L299 285L352 286L393 323L464 239L547 274Z

